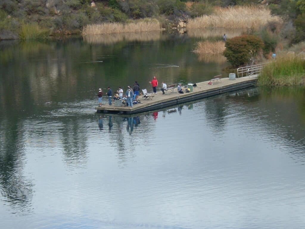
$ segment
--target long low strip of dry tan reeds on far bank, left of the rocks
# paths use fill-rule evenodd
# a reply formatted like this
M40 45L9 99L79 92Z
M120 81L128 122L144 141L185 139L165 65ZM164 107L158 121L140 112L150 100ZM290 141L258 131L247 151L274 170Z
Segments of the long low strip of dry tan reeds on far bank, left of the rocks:
M83 35L87 34L109 34L122 32L146 32L160 31L160 22L156 19L133 21L127 24L122 23L103 23L86 25L83 28Z

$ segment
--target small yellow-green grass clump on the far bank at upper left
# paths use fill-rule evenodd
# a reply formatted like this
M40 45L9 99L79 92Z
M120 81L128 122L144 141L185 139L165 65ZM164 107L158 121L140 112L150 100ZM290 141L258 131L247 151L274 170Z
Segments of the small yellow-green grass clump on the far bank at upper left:
M40 28L37 23L23 24L20 29L20 39L46 39L48 38L50 31L48 29Z

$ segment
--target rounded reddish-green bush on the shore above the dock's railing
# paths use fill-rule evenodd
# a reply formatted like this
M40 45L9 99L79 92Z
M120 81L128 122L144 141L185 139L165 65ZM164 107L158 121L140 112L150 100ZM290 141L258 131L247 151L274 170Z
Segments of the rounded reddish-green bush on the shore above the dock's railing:
M228 39L224 56L234 67L254 64L264 47L264 42L254 35L242 35Z

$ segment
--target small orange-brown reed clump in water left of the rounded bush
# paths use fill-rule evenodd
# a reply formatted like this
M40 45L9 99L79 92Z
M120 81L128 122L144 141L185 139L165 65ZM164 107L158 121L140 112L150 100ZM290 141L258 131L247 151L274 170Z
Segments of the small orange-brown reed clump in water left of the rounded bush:
M210 42L203 41L197 42L196 49L193 50L194 53L206 53L206 54L221 54L224 52L224 42Z

